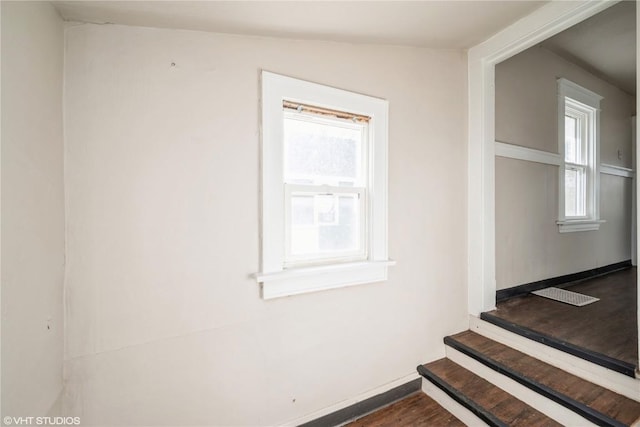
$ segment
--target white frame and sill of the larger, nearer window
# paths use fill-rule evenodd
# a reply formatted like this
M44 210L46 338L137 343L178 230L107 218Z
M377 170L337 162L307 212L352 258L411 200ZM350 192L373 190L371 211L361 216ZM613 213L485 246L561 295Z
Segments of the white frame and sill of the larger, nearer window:
M284 184L284 100L370 117L366 194L362 188L327 188L363 192L366 257L286 265L285 193L298 186ZM394 264L387 249L388 110L383 99L262 71L262 247L261 272L255 277L264 299L387 279L387 268Z

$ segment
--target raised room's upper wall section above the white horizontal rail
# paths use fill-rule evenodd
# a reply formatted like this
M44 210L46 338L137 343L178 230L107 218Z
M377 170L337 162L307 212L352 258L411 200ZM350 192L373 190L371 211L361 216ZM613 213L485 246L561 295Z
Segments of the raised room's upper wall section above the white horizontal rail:
M604 97L600 104L601 161L630 168L635 98L542 47L496 66L496 140L557 153L559 77ZM618 149L622 159L618 159Z

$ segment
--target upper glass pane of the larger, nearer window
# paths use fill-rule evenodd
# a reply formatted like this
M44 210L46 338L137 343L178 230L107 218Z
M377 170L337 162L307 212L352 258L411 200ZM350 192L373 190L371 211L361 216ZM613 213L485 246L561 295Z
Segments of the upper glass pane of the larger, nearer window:
M354 186L362 182L362 127L285 117L285 182Z

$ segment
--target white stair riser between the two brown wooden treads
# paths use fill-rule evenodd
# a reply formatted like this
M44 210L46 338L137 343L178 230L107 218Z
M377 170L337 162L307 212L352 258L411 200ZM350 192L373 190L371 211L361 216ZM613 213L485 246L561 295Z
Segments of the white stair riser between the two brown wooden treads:
M446 346L447 358L470 370L481 378L491 382L496 387L510 393L519 400L526 402L529 406L537 409L550 418L566 426L595 426L589 420L581 417L570 409L536 393L522 384L494 371L475 359L461 353L460 351Z

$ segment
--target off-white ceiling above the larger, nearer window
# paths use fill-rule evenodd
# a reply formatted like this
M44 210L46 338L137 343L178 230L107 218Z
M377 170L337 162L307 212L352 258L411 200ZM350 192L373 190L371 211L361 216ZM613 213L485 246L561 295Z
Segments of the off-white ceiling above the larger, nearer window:
M53 1L63 19L466 49L546 1Z

